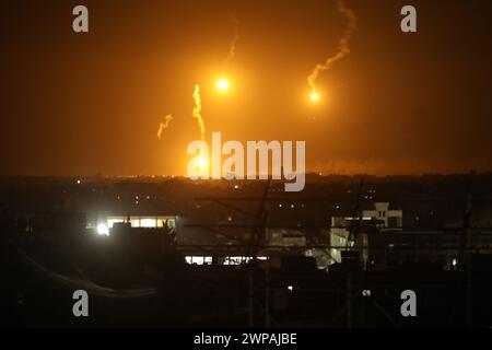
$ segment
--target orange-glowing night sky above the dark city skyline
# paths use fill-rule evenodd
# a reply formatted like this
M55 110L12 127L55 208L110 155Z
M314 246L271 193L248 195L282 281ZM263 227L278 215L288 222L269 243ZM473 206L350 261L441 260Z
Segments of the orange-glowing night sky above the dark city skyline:
M308 171L492 171L492 1L345 3L351 52L314 106L306 77L345 26L336 1L3 0L0 175L184 175L196 83L208 139L305 140ZM77 4L86 34L72 31ZM405 4L418 33L400 31Z

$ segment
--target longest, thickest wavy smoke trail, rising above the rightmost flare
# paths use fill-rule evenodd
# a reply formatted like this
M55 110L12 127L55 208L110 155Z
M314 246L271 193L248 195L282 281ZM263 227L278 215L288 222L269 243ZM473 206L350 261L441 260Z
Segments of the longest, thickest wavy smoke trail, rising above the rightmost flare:
M309 84L309 88L313 92L316 91L315 81L318 78L319 73L329 69L336 61L350 54L349 42L352 37L353 32L356 30L358 18L351 9L345 7L343 0L338 0L337 9L338 12L344 15L348 20L345 32L343 34L343 37L338 43L338 52L335 56L328 57L325 63L316 65L311 75L307 77L307 83Z

